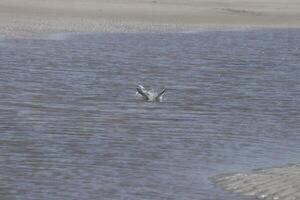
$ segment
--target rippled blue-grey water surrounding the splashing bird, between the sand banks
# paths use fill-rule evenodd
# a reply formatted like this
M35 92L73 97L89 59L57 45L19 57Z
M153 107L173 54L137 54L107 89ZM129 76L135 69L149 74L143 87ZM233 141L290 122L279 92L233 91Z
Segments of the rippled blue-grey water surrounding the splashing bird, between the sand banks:
M0 134L1 199L250 199L210 177L300 163L300 29L2 39Z

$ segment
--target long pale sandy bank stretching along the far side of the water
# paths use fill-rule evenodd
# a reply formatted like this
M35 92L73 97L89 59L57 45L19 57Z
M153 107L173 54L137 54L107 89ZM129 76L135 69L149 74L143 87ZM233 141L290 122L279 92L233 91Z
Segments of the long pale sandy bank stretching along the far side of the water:
M0 35L300 27L299 0L1 0Z

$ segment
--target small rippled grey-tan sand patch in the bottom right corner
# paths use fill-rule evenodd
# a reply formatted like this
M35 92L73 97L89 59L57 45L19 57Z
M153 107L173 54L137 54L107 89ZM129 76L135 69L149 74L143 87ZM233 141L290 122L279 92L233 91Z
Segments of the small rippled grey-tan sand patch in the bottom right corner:
M268 200L300 199L300 165L225 175L216 183L226 190Z

